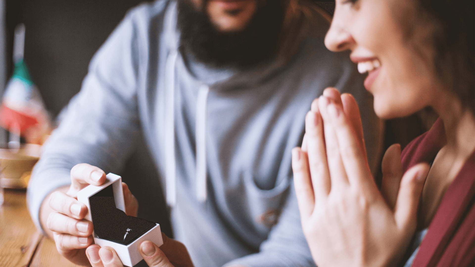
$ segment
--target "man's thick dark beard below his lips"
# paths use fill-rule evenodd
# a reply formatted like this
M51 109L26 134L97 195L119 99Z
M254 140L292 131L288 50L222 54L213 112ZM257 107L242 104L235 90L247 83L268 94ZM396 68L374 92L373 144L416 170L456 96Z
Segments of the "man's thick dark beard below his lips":
M188 0L178 1L180 51L183 54L191 52L198 61L210 67L238 69L255 66L276 54L285 11L282 1L267 0L256 10L245 29L236 32L219 31L203 10L195 10Z

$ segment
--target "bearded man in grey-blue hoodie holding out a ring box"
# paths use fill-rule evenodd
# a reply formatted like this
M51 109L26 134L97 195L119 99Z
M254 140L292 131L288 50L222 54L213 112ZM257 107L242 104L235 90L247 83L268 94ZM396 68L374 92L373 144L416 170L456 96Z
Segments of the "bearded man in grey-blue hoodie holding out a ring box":
M353 94L372 164L381 140L362 76L324 47L329 25L305 0L158 0L131 10L34 169L28 203L38 227L69 260L108 266L98 248L86 255L93 225L76 193L102 184L103 170L120 172L143 137L174 236L196 267L314 266L291 170L312 100L327 86ZM136 215L125 185L124 198Z

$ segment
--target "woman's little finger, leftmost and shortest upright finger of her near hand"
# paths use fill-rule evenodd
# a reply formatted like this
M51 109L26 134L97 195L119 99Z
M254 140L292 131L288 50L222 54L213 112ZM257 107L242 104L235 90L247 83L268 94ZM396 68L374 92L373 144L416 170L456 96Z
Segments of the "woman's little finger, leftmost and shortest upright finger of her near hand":
M312 215L315 198L308 167L308 157L299 147L292 150L292 170L294 171L295 193L300 216L302 222L305 222Z

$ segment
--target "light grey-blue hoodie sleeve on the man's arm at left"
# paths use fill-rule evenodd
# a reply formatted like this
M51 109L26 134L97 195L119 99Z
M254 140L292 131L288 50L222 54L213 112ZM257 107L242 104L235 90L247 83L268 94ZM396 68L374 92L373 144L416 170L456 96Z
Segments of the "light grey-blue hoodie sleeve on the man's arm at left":
M28 209L38 229L42 230L42 201L49 192L71 183L74 165L89 163L107 173L121 170L131 153L139 133L135 49L139 43L133 16L132 11L95 54L81 91L63 110L61 124L43 146L27 191Z

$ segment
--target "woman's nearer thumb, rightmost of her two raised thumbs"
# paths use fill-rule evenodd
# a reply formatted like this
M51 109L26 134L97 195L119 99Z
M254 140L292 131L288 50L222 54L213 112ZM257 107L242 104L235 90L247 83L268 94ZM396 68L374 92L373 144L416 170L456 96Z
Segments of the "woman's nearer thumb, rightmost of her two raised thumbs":
M394 209L399 229L416 228L420 195L429 169L430 166L427 163L419 163L402 176Z

